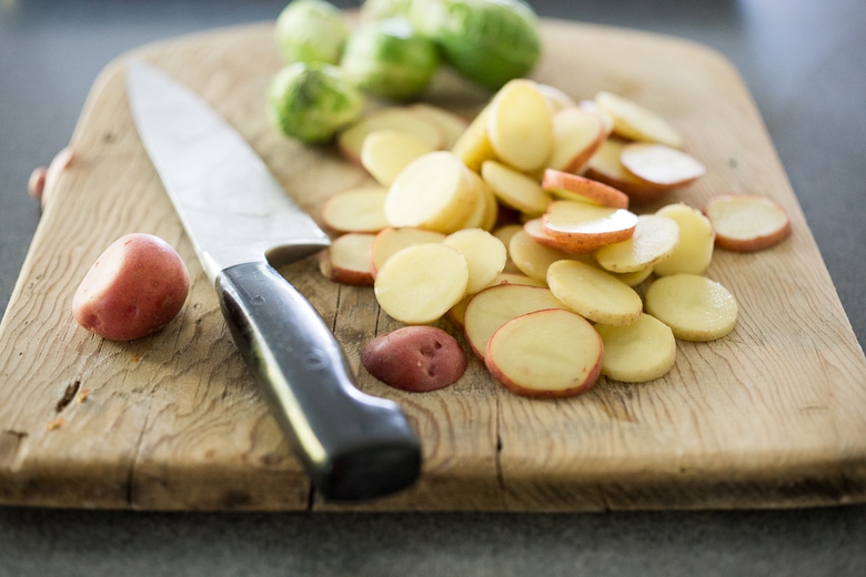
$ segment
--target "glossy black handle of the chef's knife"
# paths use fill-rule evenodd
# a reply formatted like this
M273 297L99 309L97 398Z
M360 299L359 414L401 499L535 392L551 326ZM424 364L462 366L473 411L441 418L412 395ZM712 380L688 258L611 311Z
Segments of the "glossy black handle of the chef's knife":
M379 497L412 484L421 448L400 406L359 391L312 304L266 262L228 267L216 293L259 389L325 499Z

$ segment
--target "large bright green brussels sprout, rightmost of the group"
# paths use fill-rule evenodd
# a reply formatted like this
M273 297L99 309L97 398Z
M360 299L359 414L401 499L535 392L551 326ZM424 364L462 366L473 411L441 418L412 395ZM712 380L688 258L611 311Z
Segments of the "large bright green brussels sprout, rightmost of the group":
M538 22L523 0L413 0L412 21L466 79L496 90L541 58Z

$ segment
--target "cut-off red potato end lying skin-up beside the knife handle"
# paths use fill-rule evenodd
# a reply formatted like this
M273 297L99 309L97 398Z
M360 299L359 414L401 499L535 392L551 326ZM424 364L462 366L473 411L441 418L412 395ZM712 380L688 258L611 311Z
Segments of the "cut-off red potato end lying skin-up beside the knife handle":
M389 386L425 393L455 383L465 373L469 357L445 331L413 325L373 338L361 362Z

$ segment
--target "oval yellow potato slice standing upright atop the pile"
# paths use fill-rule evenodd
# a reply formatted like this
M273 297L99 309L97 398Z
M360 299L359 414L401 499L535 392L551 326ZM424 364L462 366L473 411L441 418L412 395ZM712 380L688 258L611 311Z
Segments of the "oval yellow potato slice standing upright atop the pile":
M487 133L496 158L523 172L543 169L553 154L553 119L531 80L515 79L490 103Z

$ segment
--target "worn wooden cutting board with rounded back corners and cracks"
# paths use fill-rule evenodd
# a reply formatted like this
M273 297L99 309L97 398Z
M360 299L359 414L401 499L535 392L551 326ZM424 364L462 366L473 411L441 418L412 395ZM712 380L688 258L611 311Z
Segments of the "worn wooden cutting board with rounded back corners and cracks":
M533 401L473 358L454 386L403 394L359 363L396 327L370 288L284 269L333 326L360 387L393 398L423 443L411 489L322 503L260 401L127 107L127 54L98 79L0 325L0 503L141 509L597 510L785 507L866 500L866 361L763 121L734 68L694 43L544 21L534 74L575 99L611 90L682 130L708 166L665 202L702 206L755 192L791 214L793 236L756 254L717 251L708 276L737 297L735 331L679 343L664 378L602 378L587 394ZM234 124L315 211L370 182L330 148L278 136L263 93L280 62L271 23L135 53L188 83ZM467 118L489 94L444 72L429 100ZM239 193L242 193L240 191ZM647 210L654 206L647 207ZM70 302L99 253L128 232L175 245L193 285L159 334L112 343L81 330ZM443 324L446 326L446 324Z

